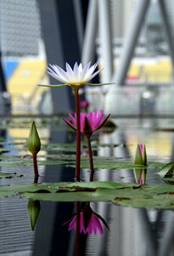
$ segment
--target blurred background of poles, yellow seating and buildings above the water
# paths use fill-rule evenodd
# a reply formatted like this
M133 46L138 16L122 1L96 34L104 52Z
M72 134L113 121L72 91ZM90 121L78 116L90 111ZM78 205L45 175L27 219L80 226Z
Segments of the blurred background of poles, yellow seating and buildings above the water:
M0 0L0 114L74 109L70 88L48 89L48 63L99 60L81 90L90 109L114 115L172 115L174 1Z

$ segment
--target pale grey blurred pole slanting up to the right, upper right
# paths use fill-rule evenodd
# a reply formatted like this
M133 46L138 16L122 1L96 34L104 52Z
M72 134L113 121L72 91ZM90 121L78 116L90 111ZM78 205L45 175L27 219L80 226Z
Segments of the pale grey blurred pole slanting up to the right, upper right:
M149 7L149 1L150 0L139 0L135 14L133 14L132 22L130 23L130 27L126 33L121 61L117 72L113 76L113 81L117 85L125 84L126 73L132 60L133 51L138 41L138 35L141 31L144 17Z

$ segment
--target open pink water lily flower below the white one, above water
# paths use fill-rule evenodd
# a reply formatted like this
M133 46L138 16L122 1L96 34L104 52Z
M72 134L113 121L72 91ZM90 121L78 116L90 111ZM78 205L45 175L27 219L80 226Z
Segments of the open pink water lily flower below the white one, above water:
M76 130L76 113L75 117L72 116L72 114L69 113L70 121L66 118L64 118L65 122L70 125L71 128ZM94 111L94 112L81 112L80 113L80 119L81 119L81 132L84 133L86 136L91 136L93 134L93 131L98 130L101 128L107 119L109 118L109 114L104 118L104 110Z

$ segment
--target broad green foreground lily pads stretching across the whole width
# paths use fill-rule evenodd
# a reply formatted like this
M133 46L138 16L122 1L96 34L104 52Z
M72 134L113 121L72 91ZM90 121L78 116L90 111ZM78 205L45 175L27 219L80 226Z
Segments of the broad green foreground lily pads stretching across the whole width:
M39 201L111 201L124 207L174 209L174 186L115 182L42 183L0 187L0 196Z

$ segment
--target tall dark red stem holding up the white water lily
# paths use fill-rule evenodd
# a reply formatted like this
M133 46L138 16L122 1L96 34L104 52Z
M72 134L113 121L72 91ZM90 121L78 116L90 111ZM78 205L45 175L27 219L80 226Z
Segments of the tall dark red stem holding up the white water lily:
M75 180L80 181L81 170L81 123L80 123L80 101L79 89L74 89L76 102L76 172Z

